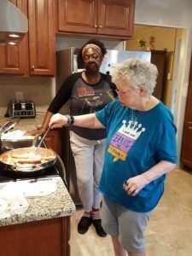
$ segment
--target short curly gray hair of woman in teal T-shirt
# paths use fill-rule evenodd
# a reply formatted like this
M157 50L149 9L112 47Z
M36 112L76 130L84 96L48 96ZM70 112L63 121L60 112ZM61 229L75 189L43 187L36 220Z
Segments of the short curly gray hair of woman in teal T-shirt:
M113 70L112 79L114 84L119 79L130 82L133 89L138 89L141 85L145 87L145 96L152 95L158 76L157 67L148 61L137 59L127 60L119 64Z

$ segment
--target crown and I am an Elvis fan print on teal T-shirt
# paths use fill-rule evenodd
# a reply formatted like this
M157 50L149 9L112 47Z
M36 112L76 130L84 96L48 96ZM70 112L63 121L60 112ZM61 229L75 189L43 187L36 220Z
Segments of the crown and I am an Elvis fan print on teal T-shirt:
M127 154L133 144L137 141L138 137L145 131L142 128L142 124L137 121L129 121L126 126L126 120L122 121L123 125L119 130L113 135L111 142L108 147L108 152L113 155L113 161L126 159Z

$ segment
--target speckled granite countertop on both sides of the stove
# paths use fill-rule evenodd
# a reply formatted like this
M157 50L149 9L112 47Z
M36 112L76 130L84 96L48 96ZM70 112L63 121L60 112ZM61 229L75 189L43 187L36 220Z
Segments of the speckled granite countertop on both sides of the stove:
M31 131L32 129L39 128L44 121L46 109L47 108L38 108L35 119L20 119L20 122L15 125L14 130ZM2 119L4 119L3 115L1 116ZM0 226L72 215L75 212L75 206L71 196L68 194L61 177L55 176L54 178L57 182L57 190L54 193L45 196L26 197L30 205L27 211L21 215L13 215L10 218L0 219ZM21 182L22 181L20 181L20 183ZM0 183L0 188L3 184L6 183Z

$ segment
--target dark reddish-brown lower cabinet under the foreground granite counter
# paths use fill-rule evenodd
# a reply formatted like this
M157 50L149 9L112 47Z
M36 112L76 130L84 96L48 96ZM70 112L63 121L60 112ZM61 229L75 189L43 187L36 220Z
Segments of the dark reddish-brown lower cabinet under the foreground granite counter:
M0 228L0 255L70 256L70 217Z

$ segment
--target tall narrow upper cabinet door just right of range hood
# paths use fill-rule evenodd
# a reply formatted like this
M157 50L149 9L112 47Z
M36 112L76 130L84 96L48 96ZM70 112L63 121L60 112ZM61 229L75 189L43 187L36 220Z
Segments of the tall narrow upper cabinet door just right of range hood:
M28 0L31 75L55 75L55 0Z

